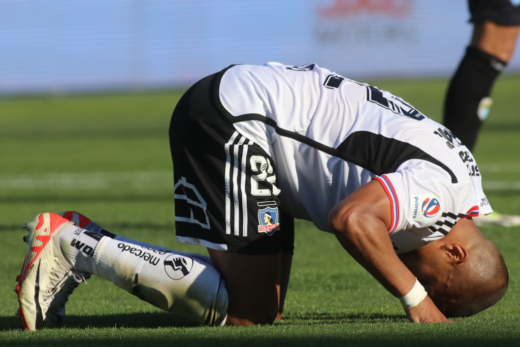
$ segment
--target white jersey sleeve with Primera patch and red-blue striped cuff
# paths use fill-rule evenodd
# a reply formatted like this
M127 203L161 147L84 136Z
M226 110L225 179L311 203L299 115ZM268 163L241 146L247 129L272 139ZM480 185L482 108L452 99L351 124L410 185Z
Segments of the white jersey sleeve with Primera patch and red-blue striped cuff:
M453 184L446 172L433 163L411 163L405 169L374 179L390 201L389 234L428 228L432 233L447 235L459 219L482 214L473 187L476 183L467 180ZM486 208L490 209L489 205Z

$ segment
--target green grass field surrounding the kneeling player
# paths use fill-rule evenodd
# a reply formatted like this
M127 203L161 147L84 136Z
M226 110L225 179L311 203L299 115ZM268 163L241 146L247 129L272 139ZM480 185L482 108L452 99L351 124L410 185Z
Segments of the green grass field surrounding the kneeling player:
M368 81L440 119L446 80ZM520 214L520 76L504 76L474 152L492 207ZM332 235L298 222L284 317L272 326L209 328L163 313L92 278L71 297L63 328L20 330L12 292L27 246L21 225L76 210L113 233L175 243L168 124L181 91L0 99L0 345L235 346L520 345L520 227L482 228L510 271L504 299L452 324L408 323L399 301Z

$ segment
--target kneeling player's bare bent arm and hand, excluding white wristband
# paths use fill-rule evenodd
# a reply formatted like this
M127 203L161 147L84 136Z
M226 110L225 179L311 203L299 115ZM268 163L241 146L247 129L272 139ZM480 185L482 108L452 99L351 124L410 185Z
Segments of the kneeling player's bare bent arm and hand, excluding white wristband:
M415 277L395 254L388 237L391 212L388 197L372 181L340 201L329 214L329 224L345 250L395 297L404 297ZM449 322L430 298L405 309L414 323Z

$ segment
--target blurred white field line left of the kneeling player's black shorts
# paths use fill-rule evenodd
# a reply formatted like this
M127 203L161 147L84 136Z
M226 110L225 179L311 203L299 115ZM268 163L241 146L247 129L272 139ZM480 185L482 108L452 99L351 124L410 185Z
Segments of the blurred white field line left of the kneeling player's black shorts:
M173 189L173 171L0 175L1 189Z

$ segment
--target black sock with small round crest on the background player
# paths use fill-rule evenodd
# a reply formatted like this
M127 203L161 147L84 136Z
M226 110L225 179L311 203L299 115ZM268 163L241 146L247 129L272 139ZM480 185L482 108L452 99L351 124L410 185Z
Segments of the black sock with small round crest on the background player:
M444 125L470 150L487 118L493 83L505 66L504 61L470 46L451 79L444 105Z

